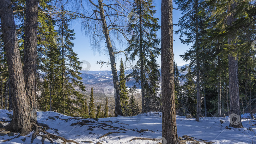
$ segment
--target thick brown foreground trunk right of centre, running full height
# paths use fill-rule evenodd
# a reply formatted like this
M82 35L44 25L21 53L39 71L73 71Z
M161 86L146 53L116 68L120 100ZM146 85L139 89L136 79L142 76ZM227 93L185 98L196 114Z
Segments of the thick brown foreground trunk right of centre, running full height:
M173 2L162 0L162 137L168 144L178 144L174 95Z

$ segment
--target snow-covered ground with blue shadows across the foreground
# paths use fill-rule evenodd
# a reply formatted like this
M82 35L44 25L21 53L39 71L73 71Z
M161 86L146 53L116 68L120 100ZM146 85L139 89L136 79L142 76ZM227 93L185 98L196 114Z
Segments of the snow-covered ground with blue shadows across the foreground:
M0 110L0 121L10 120L11 111ZM74 140L80 144L97 143L102 144L156 144L160 141L151 140L132 140L135 137L141 138L162 138L162 115L160 112L150 112L137 115L135 117L111 117L100 118L97 121L87 118L73 118L56 112L38 112L38 122L46 123L50 126L47 132L62 136L68 140ZM248 115L246 115L248 117ZM224 121L220 123L220 119ZM203 117L200 122L196 122L194 118L187 119L185 116L176 116L178 135L189 135L197 139L212 141L222 144L245 144L255 140L255 134L249 129L256 131L255 127L250 127L250 123L255 124L256 120L242 119L244 128L231 128L229 126L229 118ZM86 125L72 124L83 122ZM3 123L6 125L8 123ZM72 126L71 126L72 124ZM103 136L109 132L116 132ZM17 136L0 136L0 143L20 144L31 143L32 133L26 137L12 139L3 142L3 140ZM103 137L102 137L103 136ZM24 139L25 138L25 139ZM250 140L252 139L252 140ZM55 143L61 143L60 139L53 140ZM41 144L41 137L37 136L34 143ZM45 139L45 144L50 141Z

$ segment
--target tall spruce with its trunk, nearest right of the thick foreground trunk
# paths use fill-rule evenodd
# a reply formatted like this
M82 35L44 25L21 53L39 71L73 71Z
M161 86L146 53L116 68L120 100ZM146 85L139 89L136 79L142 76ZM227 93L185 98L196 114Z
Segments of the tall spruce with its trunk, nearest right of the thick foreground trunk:
M191 60L192 72L196 76L197 81L197 116L196 121L199 121L201 114L201 96L200 96L200 49L202 49L201 37L204 33L204 14L199 13L204 6L204 0L174 0L178 5L178 9L182 11L182 17L179 20L178 26L180 29L175 33L181 33L180 40L183 44L189 45L193 43L192 49L187 51L183 60ZM183 34L186 39L182 39Z

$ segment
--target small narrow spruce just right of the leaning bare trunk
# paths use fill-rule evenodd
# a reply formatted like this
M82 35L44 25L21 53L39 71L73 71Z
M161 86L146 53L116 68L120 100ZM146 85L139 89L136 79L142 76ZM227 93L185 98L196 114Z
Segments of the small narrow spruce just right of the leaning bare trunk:
M119 68L119 90L120 90L120 101L121 101L121 107L122 112L124 116L127 116L127 106L128 106L128 90L125 85L126 79L125 79L125 68L123 64L123 60L121 58L120 60L120 68Z

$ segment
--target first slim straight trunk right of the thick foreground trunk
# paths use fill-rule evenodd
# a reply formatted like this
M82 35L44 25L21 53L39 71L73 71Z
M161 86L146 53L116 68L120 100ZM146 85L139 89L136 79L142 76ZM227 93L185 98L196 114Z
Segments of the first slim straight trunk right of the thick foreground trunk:
M198 12L198 1L196 0L196 13ZM199 122L201 113L201 96L200 96L200 79L199 79L199 44L198 44L198 16L196 15L196 77L197 77L197 117L196 121Z

